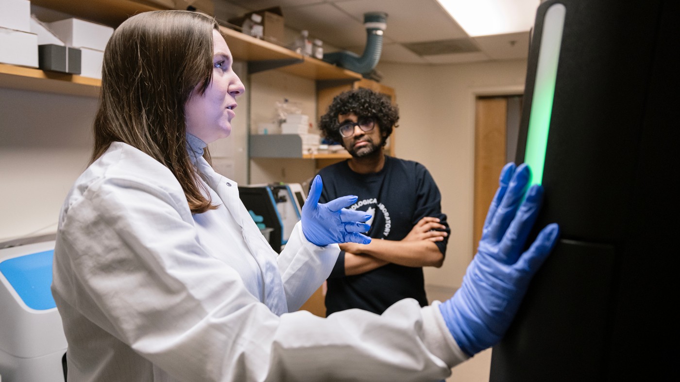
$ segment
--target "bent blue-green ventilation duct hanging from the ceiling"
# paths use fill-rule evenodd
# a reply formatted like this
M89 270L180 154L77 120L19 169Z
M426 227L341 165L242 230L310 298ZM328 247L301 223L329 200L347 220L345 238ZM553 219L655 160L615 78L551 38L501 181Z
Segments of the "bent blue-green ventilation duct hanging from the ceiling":
M387 14L385 12L364 14L364 26L366 27L367 41L362 56L347 51L333 52L324 54L324 61L356 73L371 73L375 65L378 64L382 52L383 33L387 27Z

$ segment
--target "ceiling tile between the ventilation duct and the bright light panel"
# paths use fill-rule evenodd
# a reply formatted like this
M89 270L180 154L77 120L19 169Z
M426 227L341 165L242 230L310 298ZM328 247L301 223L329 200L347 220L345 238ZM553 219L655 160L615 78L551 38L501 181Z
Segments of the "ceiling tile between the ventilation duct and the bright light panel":
M436 0L347 0L335 5L363 22L366 12L386 12L386 37L419 42L467 37Z

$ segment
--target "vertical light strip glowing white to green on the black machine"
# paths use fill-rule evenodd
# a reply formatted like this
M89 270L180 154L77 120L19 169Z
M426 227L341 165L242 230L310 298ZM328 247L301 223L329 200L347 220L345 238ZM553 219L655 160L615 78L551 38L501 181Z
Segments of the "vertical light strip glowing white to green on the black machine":
M564 5L554 4L545 12L545 19L543 20L539 62L536 69L534 96L531 100L529 129L526 137L526 151L524 152L524 163L531 167L531 183L534 185L540 185L543 181L545 151L555 96L565 14L566 7Z

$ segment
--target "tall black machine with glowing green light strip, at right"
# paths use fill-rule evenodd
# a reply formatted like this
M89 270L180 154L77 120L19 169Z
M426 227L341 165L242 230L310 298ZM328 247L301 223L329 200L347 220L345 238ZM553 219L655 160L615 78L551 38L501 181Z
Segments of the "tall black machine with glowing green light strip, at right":
M678 380L679 3L539 6L517 163L561 236L492 382Z

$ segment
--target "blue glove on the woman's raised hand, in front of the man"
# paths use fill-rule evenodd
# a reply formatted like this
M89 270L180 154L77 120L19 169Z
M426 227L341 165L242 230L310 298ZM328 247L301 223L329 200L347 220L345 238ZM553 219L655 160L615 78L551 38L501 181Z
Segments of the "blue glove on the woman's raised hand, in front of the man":
M369 244L371 237L362 235L371 228L364 224L371 218L363 211L347 210L356 202L356 196L347 195L319 204L323 183L321 176L316 176L311 183L309 195L302 208L302 231L309 242L317 246L333 243Z

